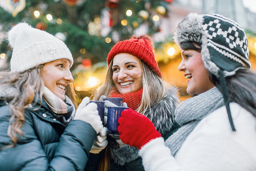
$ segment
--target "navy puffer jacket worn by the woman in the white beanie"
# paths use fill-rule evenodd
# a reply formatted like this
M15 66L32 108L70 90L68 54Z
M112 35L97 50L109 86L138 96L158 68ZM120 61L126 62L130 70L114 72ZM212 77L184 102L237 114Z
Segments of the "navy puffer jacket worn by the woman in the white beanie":
M72 120L65 127L43 100L25 111L18 143L7 135L10 107L0 100L0 170L84 170L96 137L90 124Z

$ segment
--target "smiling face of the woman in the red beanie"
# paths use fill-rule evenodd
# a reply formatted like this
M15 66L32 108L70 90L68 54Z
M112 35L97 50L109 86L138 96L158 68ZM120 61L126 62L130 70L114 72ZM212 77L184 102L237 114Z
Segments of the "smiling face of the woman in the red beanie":
M113 58L112 80L119 93L139 91L142 84L142 68L140 59L131 54L117 54Z

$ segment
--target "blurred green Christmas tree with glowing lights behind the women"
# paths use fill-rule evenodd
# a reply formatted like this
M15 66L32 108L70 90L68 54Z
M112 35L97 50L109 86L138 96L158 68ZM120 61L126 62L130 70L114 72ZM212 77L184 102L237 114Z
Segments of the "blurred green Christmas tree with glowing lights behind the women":
M154 20L168 14L171 0L1 0L1 31L18 22L46 30L62 39L74 56L75 68L105 61L114 43L135 34L141 26L149 35L160 31ZM155 16L155 18L153 17ZM0 27L1 28L1 27ZM7 42L0 44L0 54L10 60ZM88 62L86 63L88 64Z

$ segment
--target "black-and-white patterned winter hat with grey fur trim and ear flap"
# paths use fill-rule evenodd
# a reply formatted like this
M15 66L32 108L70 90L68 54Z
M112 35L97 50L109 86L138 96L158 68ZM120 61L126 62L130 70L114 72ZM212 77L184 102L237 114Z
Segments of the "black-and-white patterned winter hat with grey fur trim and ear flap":
M174 35L176 44L194 41L201 44L205 68L219 77L231 76L241 68L250 68L248 40L238 23L219 14L188 14Z

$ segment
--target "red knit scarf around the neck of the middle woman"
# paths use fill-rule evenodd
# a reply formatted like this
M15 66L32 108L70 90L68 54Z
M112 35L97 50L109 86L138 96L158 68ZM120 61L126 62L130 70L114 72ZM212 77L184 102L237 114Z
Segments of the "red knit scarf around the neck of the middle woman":
M139 91L132 92L132 93L124 93L120 94L117 90L113 91L108 97L122 97L123 102L127 104L127 107L136 110L139 108L142 98L143 88Z

